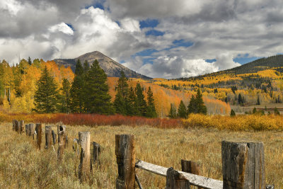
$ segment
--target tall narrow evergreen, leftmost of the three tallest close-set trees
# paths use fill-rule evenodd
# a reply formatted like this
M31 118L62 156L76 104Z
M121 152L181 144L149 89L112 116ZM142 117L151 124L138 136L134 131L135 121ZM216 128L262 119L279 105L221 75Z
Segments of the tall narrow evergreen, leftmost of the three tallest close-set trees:
M84 111L84 100L85 100L85 90L84 90L84 76L83 76L83 66L81 61L78 59L76 62L75 77L73 84L71 85L71 111L73 113L83 113Z

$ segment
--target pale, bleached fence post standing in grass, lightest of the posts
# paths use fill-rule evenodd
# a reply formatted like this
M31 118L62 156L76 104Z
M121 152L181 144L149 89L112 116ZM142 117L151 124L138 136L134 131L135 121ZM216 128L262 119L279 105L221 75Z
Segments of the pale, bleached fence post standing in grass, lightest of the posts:
M91 174L91 133L79 132L81 156L79 164L79 180L86 181Z

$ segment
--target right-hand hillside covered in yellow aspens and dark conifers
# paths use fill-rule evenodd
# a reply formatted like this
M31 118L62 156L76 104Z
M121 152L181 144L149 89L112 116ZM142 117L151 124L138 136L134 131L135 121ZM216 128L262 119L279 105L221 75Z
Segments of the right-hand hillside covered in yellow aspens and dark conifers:
M201 88L203 96L229 103L238 113L253 111L253 105L281 107L283 103L283 55L257 59L240 67L180 79L156 79L154 84L177 91ZM258 108L260 110L260 108ZM262 109L261 109L262 110Z

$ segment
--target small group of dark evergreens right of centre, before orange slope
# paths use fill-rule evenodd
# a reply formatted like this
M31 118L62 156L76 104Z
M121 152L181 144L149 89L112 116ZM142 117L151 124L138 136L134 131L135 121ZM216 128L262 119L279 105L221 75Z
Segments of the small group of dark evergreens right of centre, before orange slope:
M180 101L178 110L175 108L175 105L171 103L168 117L187 118L187 116L191 113L207 114L207 107L204 105L200 88L197 90L196 96L192 96L190 98L190 103L187 105L187 108L183 101Z

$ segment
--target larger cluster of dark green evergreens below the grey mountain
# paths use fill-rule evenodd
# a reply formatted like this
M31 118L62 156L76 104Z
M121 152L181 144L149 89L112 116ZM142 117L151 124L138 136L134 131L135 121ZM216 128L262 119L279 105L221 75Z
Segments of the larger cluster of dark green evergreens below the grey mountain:
M63 79L62 88L57 88L54 78L47 67L37 81L35 91L35 109L37 113L98 113L110 115L138 115L156 118L154 95L149 87L147 102L143 88L138 83L136 88L129 88L128 79L121 72L116 87L114 103L108 93L107 75L95 60L91 67L87 61L76 62L75 76L72 84Z

